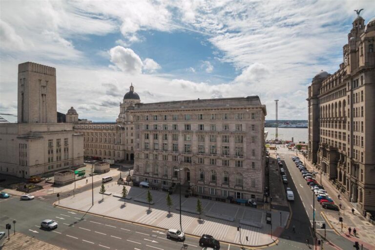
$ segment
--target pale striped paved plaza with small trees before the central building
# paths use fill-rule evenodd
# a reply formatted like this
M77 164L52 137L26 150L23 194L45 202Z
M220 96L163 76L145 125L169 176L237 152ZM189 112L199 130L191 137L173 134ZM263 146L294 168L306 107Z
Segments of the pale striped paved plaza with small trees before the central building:
M125 203L124 199L114 197L114 195L121 195L123 186L110 183L105 184L107 195L104 194L104 200L102 200L103 195L99 193L100 188L94 188L94 206L92 206L91 190L79 193L75 197L62 199L59 206L162 229L180 228L180 217L177 210L179 208L179 195L171 195L173 206L170 208L171 213L168 214L167 192L151 190L154 205L151 205L151 211L149 211L148 204L134 200L146 200L148 189L129 186L126 186L126 188L128 189L127 197L131 197L131 199L126 200ZM271 239L271 225L266 224L266 210L206 199L201 199L201 202L204 212L202 220L199 220L198 214L192 213L195 211L197 198L182 197L182 227L184 232L196 236L210 234L218 240L235 244L241 244L242 242L246 246L262 246L273 243L275 237ZM273 233L280 232L287 224L289 212L272 210L271 213ZM240 222L242 223L240 224L241 242L240 233L237 231Z

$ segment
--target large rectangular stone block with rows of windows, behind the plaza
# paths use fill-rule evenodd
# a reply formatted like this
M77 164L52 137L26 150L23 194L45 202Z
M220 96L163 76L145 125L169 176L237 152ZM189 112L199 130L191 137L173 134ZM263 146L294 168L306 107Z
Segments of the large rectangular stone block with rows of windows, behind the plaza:
M266 106L259 97L135 104L134 177L199 195L263 199Z

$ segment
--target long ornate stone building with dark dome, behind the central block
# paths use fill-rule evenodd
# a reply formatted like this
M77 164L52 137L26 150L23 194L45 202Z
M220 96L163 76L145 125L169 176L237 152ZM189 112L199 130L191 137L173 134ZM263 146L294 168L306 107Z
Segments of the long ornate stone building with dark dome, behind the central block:
M74 130L83 134L84 156L94 159L111 159L116 162L134 161L134 125L129 110L141 102L134 92L133 84L120 103L120 114L113 123L92 123L78 120L76 110L71 107L66 113L66 122L74 124Z

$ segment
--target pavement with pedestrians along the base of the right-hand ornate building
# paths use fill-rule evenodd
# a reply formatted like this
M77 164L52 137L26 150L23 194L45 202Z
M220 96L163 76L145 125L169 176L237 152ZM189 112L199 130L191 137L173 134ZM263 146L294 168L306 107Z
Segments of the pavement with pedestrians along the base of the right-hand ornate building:
M302 161L304 160L302 155L298 154L298 156ZM317 171L307 159L305 160L305 164L309 170L318 172L315 178L318 181L320 181L320 179L322 180L323 187L328 191L335 204L338 205L341 203L342 209L340 209L336 215L323 212L323 216L327 218L327 221L330 222L336 233L352 242L358 241L359 245L363 244L363 247L367 249L375 249L375 225L368 222L366 218L355 209L352 203L340 194L336 187L333 186L332 182L328 180L326 175L323 174L320 178L320 172ZM340 199L338 199L338 194L341 195ZM352 208L354 208L354 213L352 213ZM343 232L341 232L341 223L338 222L339 216L343 217ZM356 236L353 235L353 231L352 235L349 235L349 227L357 230Z

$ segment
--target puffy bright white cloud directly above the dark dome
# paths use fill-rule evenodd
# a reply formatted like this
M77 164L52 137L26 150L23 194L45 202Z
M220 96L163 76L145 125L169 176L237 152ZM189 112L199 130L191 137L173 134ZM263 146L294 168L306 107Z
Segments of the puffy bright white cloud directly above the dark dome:
M141 74L143 62L141 58L130 48L116 46L109 50L111 62L119 69L130 74Z

